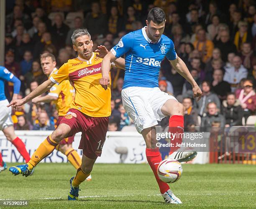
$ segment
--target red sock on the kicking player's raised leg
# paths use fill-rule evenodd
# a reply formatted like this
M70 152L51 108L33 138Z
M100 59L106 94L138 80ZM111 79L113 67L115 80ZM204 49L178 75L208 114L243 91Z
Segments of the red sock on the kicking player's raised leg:
M171 148L172 150L169 152L170 155L180 148L177 144L182 143L182 133L184 133L184 116L175 115L169 119L169 132L173 134L176 133L176 137L171 140L171 143L174 143L174 147Z

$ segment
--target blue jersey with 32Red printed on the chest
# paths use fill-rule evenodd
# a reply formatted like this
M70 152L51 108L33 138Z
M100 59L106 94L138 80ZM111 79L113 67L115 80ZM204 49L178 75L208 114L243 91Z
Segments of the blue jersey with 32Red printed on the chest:
M125 54L125 77L123 89L131 86L158 87L161 61L175 60L177 54L174 43L165 35L157 43L152 43L145 28L126 34L111 52L119 58Z

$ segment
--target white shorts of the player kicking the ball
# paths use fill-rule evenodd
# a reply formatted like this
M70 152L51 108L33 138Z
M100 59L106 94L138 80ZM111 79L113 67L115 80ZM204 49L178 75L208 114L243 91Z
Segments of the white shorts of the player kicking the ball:
M123 107L133 120L139 133L144 128L156 126L166 116L161 108L169 100L177 99L158 87L128 87L122 90Z

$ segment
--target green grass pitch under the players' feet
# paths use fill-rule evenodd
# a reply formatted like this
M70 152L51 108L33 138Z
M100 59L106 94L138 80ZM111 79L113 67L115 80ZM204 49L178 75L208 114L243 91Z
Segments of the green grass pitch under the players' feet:
M255 165L184 164L181 179L170 185L181 205L164 203L147 164L95 164L92 181L80 185L79 201L67 201L75 173L70 164L42 163L27 178L5 170L0 173L0 199L25 199L30 202L24 208L51 209L256 207Z

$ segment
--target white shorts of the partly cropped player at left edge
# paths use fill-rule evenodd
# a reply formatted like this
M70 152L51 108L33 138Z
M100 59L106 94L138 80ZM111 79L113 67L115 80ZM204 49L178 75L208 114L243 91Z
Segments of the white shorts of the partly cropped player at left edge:
M7 107L9 104L8 100L0 101L0 131L8 126L13 126L13 120L11 116L12 108Z

